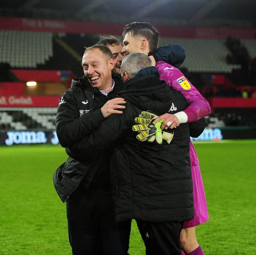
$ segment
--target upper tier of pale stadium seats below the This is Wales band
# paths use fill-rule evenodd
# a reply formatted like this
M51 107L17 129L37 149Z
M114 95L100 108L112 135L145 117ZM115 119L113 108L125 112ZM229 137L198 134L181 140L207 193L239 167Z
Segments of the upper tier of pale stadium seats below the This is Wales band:
M80 68L83 46L91 46L98 39L99 35L65 33L53 35L48 32L0 30L0 43L3 47L0 62L9 63L11 67L16 68L39 69L43 67L66 69L69 63L69 69L72 71L76 69L75 73L81 73L78 68ZM225 41L225 39L161 37L159 46L170 43L182 45L186 49L186 59L182 67L187 68L189 72L231 73L233 69L240 69L241 64L227 63L225 57L230 51ZM244 39L241 42L250 56L255 58L256 41Z

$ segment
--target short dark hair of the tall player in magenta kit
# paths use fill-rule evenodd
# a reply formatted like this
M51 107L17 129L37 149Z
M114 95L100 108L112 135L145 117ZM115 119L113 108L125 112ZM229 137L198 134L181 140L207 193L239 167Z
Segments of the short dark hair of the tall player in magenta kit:
M123 38L129 33L132 36L143 36L148 40L149 50L152 52L156 50L159 42L159 32L148 22L134 21L126 24L123 30Z

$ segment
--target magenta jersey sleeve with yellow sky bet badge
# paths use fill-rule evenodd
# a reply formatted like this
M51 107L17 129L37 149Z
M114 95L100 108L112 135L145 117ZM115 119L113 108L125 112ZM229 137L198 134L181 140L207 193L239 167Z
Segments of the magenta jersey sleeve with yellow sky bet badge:
M211 106L200 92L188 81L180 70L163 61L156 63L160 80L164 80L175 90L180 91L187 99L189 106L183 112L188 115L188 122L200 120L211 112Z

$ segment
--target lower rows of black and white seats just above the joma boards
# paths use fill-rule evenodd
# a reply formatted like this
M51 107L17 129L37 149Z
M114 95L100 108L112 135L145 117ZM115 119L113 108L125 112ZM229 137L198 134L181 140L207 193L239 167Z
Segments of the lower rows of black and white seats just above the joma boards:
M0 108L0 131L5 130L54 130L57 108ZM216 108L205 117L208 128L230 126L256 126L253 108Z

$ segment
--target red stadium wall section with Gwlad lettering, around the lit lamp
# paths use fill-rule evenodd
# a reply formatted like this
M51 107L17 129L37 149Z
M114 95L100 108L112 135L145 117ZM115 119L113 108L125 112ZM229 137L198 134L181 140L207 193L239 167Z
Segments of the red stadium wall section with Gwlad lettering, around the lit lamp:
M0 107L57 107L74 75L65 70L12 69L19 82L0 82ZM27 87L27 81L36 81ZM52 86L54 85L54 86Z

